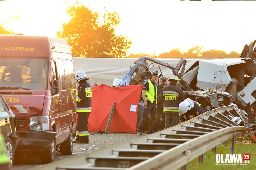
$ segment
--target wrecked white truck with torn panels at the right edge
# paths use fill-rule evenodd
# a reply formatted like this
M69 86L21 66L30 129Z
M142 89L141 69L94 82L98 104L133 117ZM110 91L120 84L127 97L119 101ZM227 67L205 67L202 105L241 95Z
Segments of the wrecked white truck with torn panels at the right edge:
M255 42L245 45L241 58L195 61L185 71L183 79L193 90L209 88L228 92L232 103L245 110L249 121L254 122L251 105L255 104L256 98Z

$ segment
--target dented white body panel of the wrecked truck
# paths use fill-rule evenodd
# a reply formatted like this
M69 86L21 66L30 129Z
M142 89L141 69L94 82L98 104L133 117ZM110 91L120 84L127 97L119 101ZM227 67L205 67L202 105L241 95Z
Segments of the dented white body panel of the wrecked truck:
M242 59L199 60L197 87L224 91L232 81L227 67L240 63L245 63L245 61Z

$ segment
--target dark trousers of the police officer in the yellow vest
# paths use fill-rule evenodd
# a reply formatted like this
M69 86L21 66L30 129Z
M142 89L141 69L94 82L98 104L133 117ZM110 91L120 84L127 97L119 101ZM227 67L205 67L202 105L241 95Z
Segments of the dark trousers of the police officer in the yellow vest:
M144 107L142 116L140 118L140 122L138 124L137 132L142 132L143 126L148 119L148 114L150 114L150 119L149 119L149 134L155 133L158 131L159 128L159 117L157 117L156 114L156 103L153 101L151 103L149 100L147 100L147 107ZM157 125L158 123L158 125Z

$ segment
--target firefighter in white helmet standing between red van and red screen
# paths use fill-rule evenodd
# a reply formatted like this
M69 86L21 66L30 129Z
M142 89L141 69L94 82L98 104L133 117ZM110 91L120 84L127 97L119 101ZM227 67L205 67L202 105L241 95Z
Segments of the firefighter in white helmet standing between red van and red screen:
M76 103L78 114L76 127L76 140L74 143L89 143L88 118L91 113L91 86L86 82L89 78L83 70L76 72L76 80L79 83L76 92Z

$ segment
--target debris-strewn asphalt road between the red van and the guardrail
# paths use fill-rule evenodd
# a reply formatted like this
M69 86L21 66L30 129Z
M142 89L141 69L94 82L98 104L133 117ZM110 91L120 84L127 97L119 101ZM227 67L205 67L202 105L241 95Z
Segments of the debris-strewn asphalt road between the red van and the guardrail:
M76 144L73 145L73 154L72 155L61 155L60 152L56 152L56 157L54 161L62 160L72 156L76 156L82 153L89 153L96 151L101 148L113 146L120 144L126 141L139 138L136 134L132 133L116 133L109 132L108 134L96 134L90 132L89 143L88 144ZM147 134L143 133L142 136ZM27 170L29 168L34 168L36 166L43 165L40 162L39 155L23 155L14 158L13 170Z

